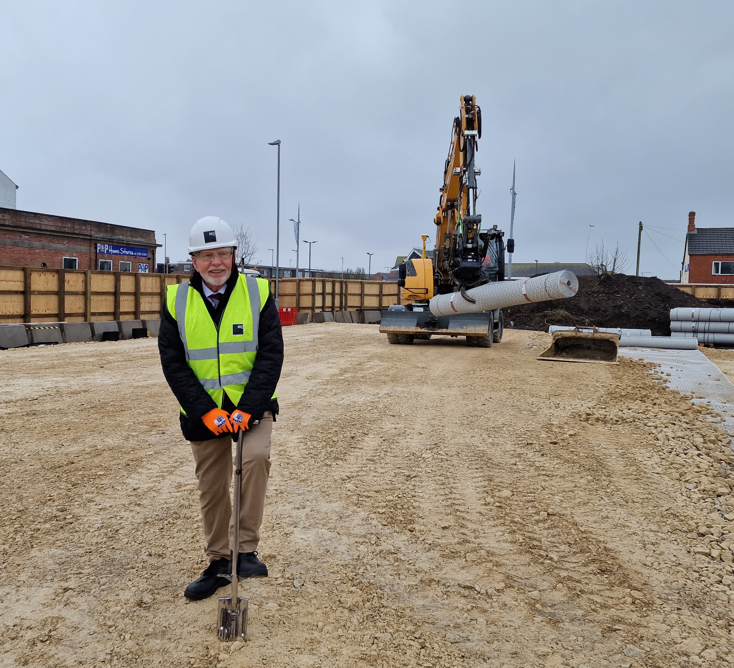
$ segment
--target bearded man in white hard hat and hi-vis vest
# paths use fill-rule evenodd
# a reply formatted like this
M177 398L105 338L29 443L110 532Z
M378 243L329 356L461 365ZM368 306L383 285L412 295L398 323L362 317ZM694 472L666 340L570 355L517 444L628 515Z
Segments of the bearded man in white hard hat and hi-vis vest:
M181 431L191 442L199 482L209 565L186 587L190 600L229 584L232 441L244 429L239 519L241 578L266 577L255 549L270 471L275 388L283 366L283 333L268 281L241 275L237 242L221 218L197 221L189 236L195 273L168 286L158 346L163 374L181 404Z

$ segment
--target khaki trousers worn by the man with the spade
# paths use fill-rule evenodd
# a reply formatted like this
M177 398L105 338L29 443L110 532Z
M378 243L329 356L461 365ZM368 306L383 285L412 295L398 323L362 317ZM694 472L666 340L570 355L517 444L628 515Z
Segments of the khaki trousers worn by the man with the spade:
M263 415L260 424L244 432L242 439L242 494L239 515L239 552L254 552L260 540L265 492L270 473L270 433L273 416ZM232 435L192 440L196 477L199 481L201 517L206 556L210 562L231 559L234 518L230 501L232 480Z

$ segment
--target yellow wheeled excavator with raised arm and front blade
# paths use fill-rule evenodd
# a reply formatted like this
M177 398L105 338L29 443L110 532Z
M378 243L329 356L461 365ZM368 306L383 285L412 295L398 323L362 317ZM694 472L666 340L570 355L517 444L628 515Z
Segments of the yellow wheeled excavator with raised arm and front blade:
M424 234L421 258L398 266L402 303L382 311L380 332L388 335L391 344L448 335L465 336L470 346L489 347L502 339L500 309L434 316L428 306L435 294L451 292L460 292L471 302L465 290L504 280L504 232L497 225L483 230L482 214L476 213L476 177L482 172L474 156L481 137L482 110L473 95L463 95L443 169L432 257L426 258L428 236ZM514 252L512 239L506 250Z

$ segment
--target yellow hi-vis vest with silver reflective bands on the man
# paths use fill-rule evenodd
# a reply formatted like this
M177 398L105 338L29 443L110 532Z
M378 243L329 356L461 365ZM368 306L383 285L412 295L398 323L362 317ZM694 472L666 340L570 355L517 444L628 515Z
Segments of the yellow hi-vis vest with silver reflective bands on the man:
M260 312L269 292L267 280L240 274L217 329L204 297L189 281L167 287L168 312L178 323L186 363L219 408L225 392L236 406L250 379ZM185 414L183 408L181 413Z

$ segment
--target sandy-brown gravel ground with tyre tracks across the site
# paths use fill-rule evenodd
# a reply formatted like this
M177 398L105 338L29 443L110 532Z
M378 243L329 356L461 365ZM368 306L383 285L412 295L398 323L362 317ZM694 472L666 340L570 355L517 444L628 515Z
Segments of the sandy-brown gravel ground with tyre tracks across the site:
M734 665L728 435L655 369L285 335L244 646L156 341L0 352L1 666Z

